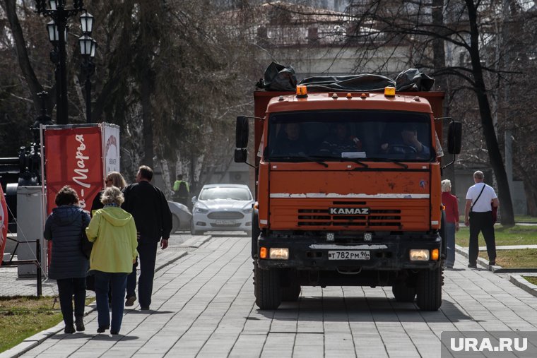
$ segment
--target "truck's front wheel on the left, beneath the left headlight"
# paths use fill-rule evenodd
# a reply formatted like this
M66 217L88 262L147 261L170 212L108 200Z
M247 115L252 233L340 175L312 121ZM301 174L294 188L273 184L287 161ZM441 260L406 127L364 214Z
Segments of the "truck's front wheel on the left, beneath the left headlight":
M254 290L256 305L260 309L277 309L281 304L280 273L278 270L261 270L254 263Z

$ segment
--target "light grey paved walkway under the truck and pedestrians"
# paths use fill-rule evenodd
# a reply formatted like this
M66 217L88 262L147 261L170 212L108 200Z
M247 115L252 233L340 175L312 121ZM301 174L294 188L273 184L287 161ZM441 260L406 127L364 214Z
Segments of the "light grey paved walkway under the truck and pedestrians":
M120 335L96 334L93 312L85 333L23 357L439 357L443 330L537 330L536 297L460 255L437 312L395 302L390 287L304 287L299 302L260 311L249 244L213 237L166 265L152 311L126 309Z

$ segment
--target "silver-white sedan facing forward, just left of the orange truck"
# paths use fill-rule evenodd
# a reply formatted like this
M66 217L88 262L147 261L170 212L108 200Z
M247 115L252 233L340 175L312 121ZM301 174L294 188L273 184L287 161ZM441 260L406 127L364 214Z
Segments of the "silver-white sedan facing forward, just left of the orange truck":
M254 198L248 186L242 184L207 184L192 198L190 232L199 235L206 231L252 232Z

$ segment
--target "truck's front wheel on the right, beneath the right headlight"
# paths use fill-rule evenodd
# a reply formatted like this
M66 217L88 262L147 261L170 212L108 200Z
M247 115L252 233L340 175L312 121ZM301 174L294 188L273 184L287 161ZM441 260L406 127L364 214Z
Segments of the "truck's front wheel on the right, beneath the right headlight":
M442 268L418 274L416 304L422 311L438 311L442 305Z

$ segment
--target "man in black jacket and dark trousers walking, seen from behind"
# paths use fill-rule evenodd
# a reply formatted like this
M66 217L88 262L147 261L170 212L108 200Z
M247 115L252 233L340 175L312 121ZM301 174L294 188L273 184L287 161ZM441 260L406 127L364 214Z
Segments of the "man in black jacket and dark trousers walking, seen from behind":
M151 185L153 170L142 165L136 174L136 184L124 189L125 201L122 208L131 213L138 232L138 255L140 256L140 278L138 279L138 301L140 309L149 309L153 292L157 246L166 249L172 231L172 213L160 189ZM162 238L162 239L161 239ZM125 306L136 300L136 266L127 278Z

